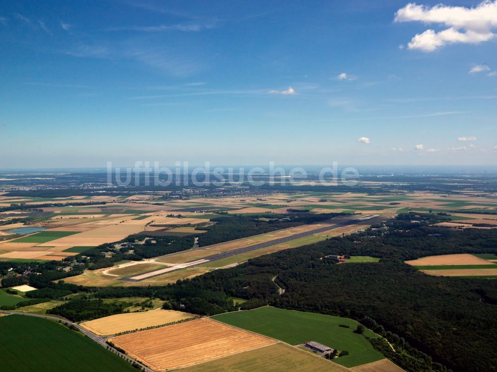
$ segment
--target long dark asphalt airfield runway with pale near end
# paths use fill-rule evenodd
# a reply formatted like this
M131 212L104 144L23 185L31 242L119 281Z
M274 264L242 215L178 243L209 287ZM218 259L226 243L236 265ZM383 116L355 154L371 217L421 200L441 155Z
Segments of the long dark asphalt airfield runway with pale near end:
M207 262L210 262L210 261L220 260L222 258L235 256L235 255L240 254L240 253L250 252L250 251L253 251L253 250L259 249L259 248L266 248L266 247L269 247L269 246L272 246L272 245L285 243L287 241L291 241L291 240L299 239L299 238L302 238L302 237L305 237L305 236L317 234L319 232L324 232L324 231L328 231L328 230L334 230L334 229L339 228L339 227L344 227L344 226L350 226L350 225L353 225L353 224L358 224L358 223L364 222L366 220L370 220L370 219L375 218L375 217L378 217L378 216L377 215L375 215L375 216L368 216L368 217L363 217L363 218L354 219L354 220L347 220L347 221L344 221L344 222L337 222L337 223L335 223L332 226L326 226L326 227L316 228L314 230L309 230L309 231L301 232L301 233L298 233L298 234L293 234L293 235L285 236L285 237L282 237L282 238L279 238L279 239L274 239L274 240L270 240L270 241L265 241L263 243L257 243L257 244L249 245L248 247L233 249L231 251L226 251L226 252L221 252L221 253L216 253L216 254L213 254L212 256L204 257L201 260L195 260L195 261L185 262L184 264L178 265L178 267L173 267L173 268L170 268L170 269L152 270L152 271L149 271L147 273L142 273L140 275L136 275L136 276L133 276L133 277L121 278L119 280L125 281L125 282L140 282L142 280L154 278L156 276L163 275L163 274L166 274L166 273L168 274L168 273L172 273L174 271L183 270L184 268L187 268L187 267L204 264L204 263L207 263ZM332 221L329 220L329 221L323 221L323 222L330 223ZM205 249L205 248L208 248L208 247L203 247L203 249ZM161 257L166 257L166 256L161 256ZM157 272L157 274L154 274L155 272ZM137 278L137 277L140 277L140 278Z

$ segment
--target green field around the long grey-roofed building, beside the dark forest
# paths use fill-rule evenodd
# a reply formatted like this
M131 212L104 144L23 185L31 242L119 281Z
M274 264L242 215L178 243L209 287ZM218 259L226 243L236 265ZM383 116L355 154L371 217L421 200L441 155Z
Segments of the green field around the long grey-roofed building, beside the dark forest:
M347 350L349 355L333 360L344 367L355 367L385 358L364 337L378 336L368 329L364 335L354 333L358 323L348 318L270 306L229 312L212 318L290 345L317 341L339 351ZM350 328L339 327L339 324L348 325Z

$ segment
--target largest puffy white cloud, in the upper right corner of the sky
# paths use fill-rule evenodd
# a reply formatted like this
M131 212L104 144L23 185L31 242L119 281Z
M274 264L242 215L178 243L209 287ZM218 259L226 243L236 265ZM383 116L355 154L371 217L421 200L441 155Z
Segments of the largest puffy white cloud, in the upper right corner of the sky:
M497 28L497 0L485 0L472 8L409 3L395 13L394 22L411 21L442 24L448 28L439 32L428 29L416 34L408 44L409 49L432 52L447 44L479 44L496 35L493 30Z

